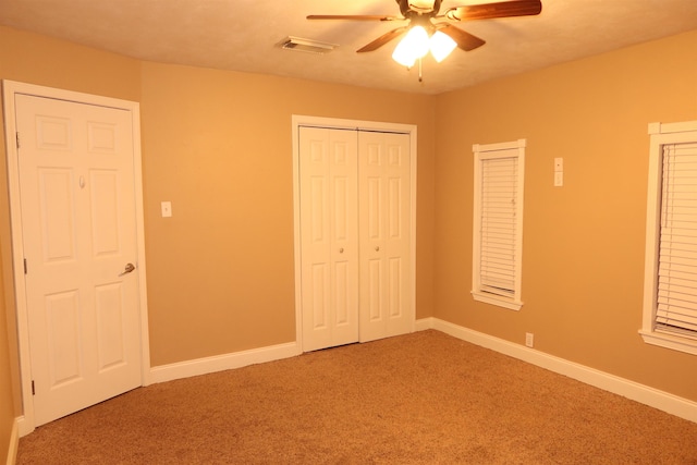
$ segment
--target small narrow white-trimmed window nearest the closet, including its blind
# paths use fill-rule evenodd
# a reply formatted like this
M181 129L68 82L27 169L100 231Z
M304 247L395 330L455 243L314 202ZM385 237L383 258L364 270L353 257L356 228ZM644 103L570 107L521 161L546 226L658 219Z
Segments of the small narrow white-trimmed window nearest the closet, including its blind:
M519 310L525 139L474 145L475 301Z

